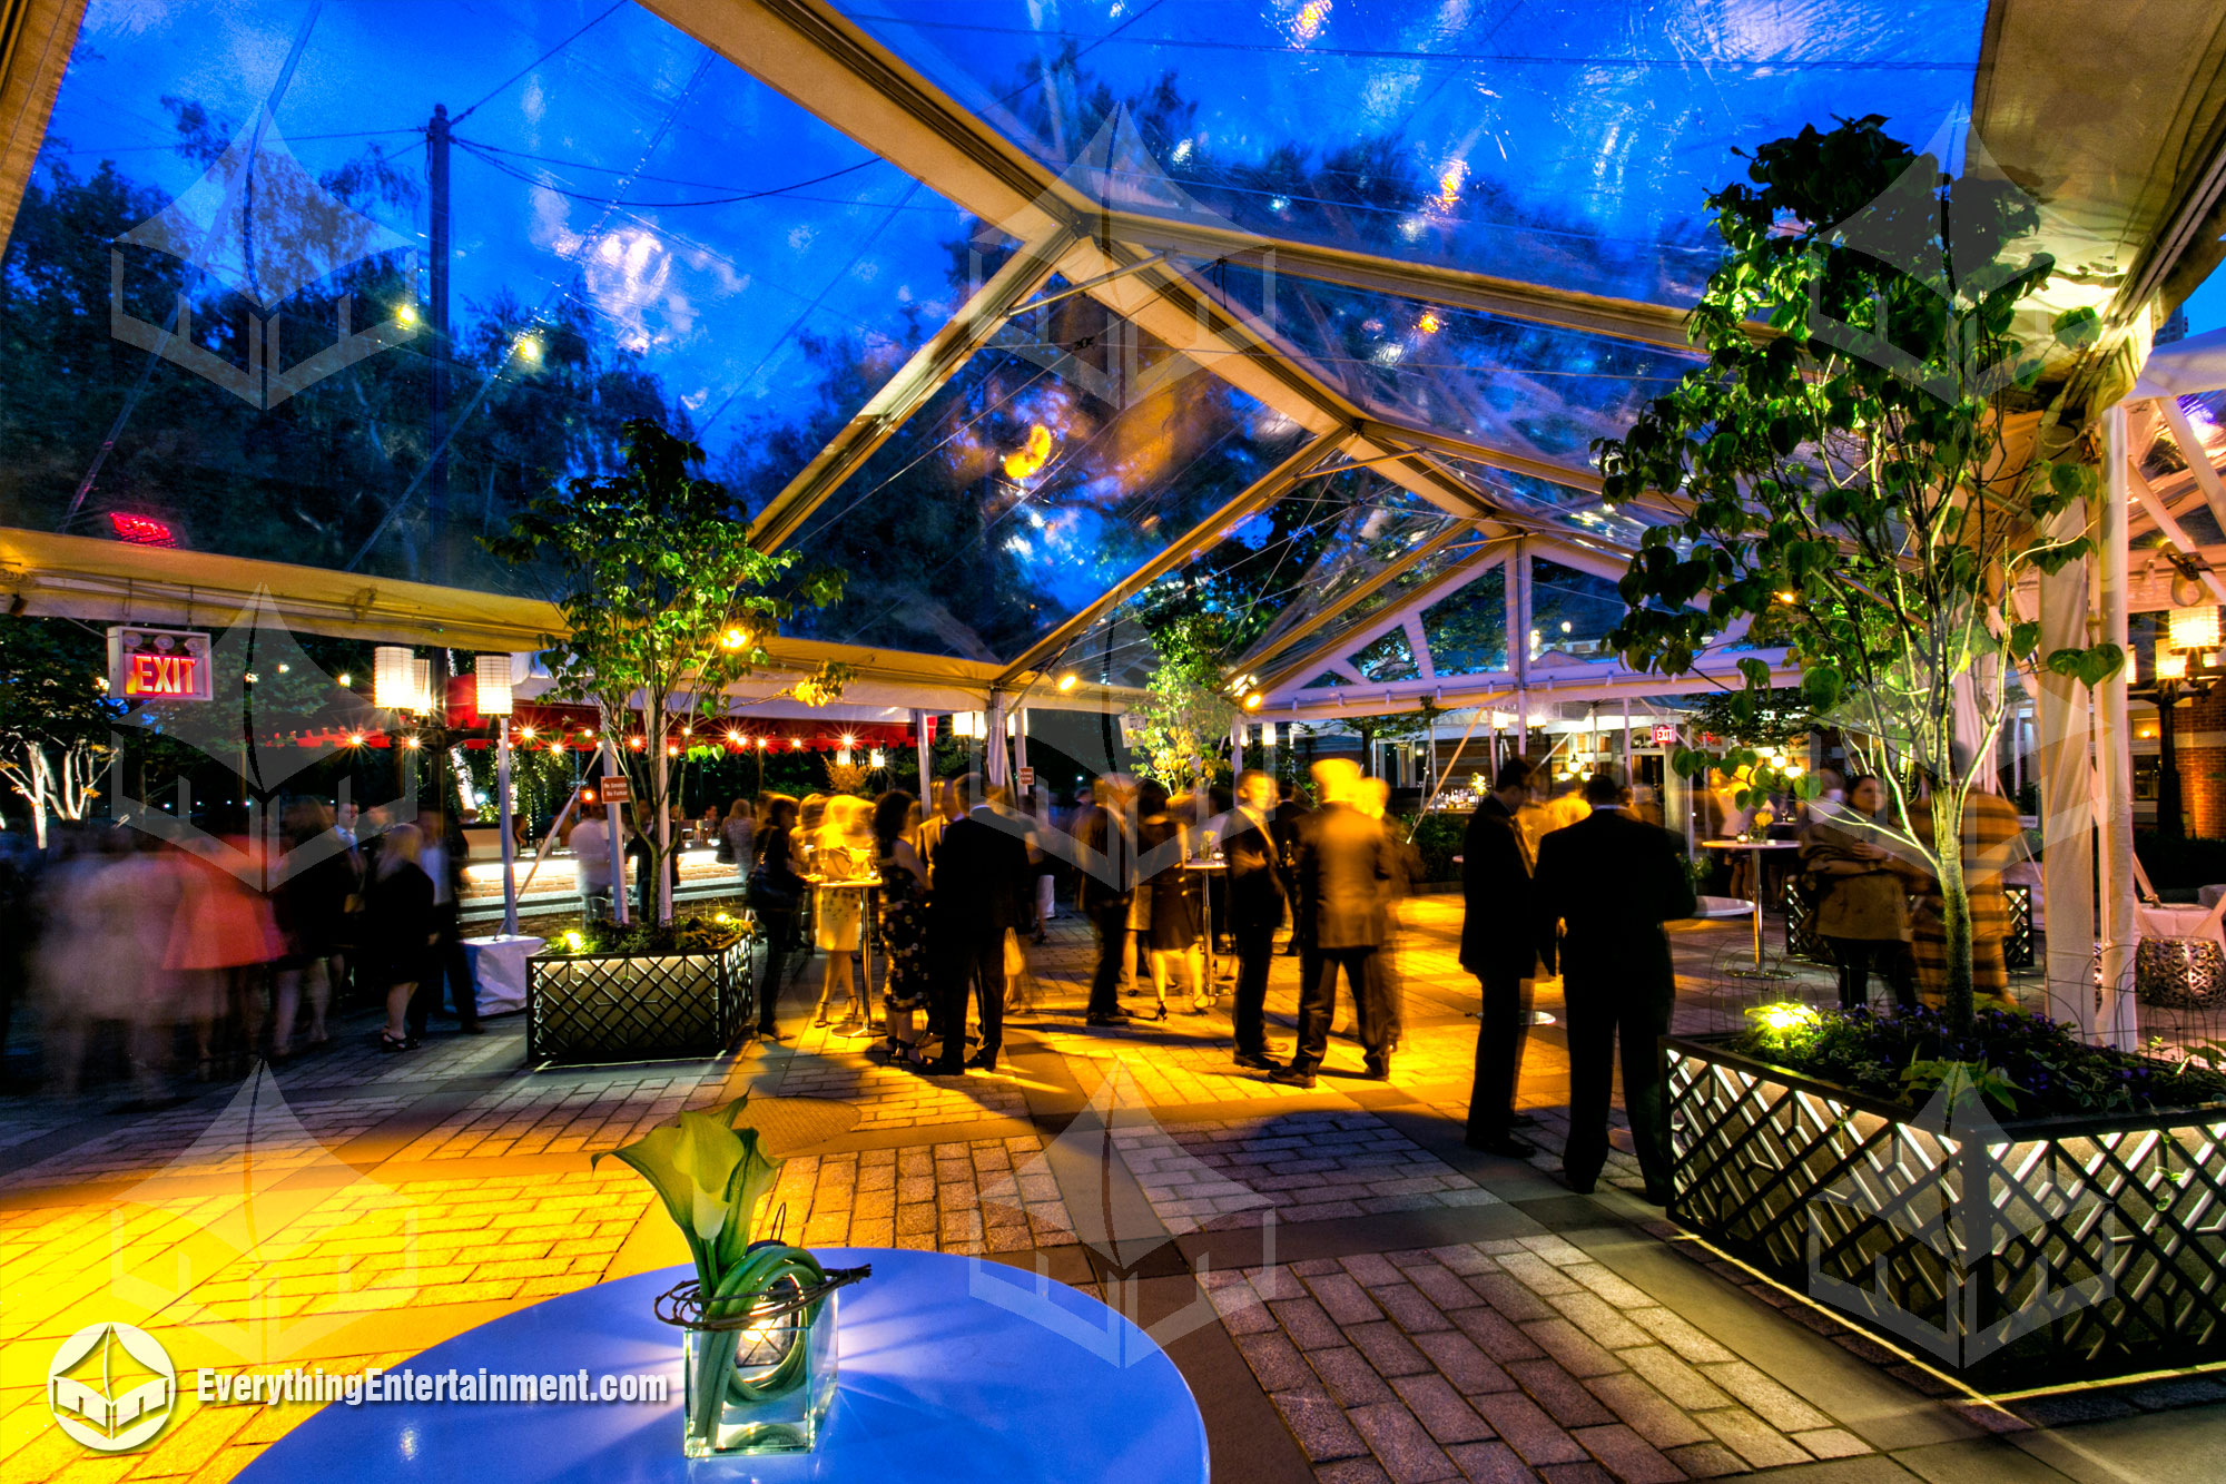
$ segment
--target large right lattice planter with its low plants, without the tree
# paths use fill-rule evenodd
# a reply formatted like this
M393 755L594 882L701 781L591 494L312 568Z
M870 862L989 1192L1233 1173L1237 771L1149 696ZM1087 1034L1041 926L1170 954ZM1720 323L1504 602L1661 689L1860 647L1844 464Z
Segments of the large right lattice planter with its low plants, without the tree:
M2226 1359L2226 1076L2032 1016L1667 1038L1670 1214L1977 1386Z

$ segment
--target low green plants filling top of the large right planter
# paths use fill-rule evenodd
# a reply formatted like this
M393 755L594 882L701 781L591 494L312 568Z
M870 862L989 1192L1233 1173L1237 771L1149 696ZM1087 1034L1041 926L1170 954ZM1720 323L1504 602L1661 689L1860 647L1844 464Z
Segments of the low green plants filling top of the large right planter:
M1854 1092L1919 1107L1939 1087L1970 1090L1999 1114L2101 1114L2226 1103L2226 1056L2161 1061L2088 1045L2072 1025L1981 1009L1957 1032L1939 1009L1759 1005L1727 1049Z

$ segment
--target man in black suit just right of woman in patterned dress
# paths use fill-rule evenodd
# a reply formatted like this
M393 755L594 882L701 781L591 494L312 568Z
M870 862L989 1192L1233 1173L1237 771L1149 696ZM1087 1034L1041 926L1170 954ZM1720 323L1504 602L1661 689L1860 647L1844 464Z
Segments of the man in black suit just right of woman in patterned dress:
M982 800L951 820L935 842L935 889L928 896L928 972L935 983L942 1056L924 1072L957 1076L966 1067L997 1070L1004 1047L1004 931L1031 929L1035 869L1020 824L982 793L982 775L955 784L959 800ZM966 1061L966 987L982 1000L982 1049Z

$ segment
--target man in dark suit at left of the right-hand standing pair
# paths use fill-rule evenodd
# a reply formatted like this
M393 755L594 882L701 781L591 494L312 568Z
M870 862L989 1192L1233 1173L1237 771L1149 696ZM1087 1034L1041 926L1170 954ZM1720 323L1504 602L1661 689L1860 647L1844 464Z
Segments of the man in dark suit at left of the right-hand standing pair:
M1527 1159L1536 1150L1518 1139L1516 1081L1523 1076L1523 1038L1529 1034L1529 978L1538 967L1538 914L1531 907L1529 853L1516 809L1531 791L1529 758L1500 764L1491 793L1469 816L1460 840L1460 967L1485 992L1476 1025L1476 1081L1469 1087L1471 1150Z

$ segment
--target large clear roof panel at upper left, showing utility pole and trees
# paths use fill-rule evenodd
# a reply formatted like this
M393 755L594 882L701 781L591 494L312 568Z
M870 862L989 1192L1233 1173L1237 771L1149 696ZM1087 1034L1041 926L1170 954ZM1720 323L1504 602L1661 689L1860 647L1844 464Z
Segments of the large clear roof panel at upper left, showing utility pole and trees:
M227 555L530 590L476 537L612 468L626 419L688 430L723 475L743 448L817 446L1004 252L637 7L93 0L0 265L0 519L127 512ZM142 325L122 339L111 256ZM149 354L180 290L189 332ZM318 361L343 312L372 354Z

